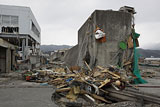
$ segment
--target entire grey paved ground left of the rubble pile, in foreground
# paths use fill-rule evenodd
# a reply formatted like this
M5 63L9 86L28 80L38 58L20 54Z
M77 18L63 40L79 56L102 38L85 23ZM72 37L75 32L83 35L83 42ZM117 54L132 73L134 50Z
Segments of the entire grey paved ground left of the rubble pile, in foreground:
M51 85L0 77L0 107L57 107L51 101L53 92Z

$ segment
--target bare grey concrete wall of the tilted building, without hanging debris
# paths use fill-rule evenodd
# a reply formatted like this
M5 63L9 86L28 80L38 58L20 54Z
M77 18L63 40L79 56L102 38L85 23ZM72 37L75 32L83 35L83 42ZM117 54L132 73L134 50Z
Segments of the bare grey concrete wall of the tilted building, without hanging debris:
M107 10L94 11L78 31L78 46L74 49L78 50L78 54L74 57L74 61L71 61L76 61L74 65L83 66L83 59L88 57L90 67L108 66L119 52L121 55L114 59L116 65L124 55L124 52L119 49L119 43L126 42L131 34L131 21L132 15L130 13ZM95 39L96 26L106 33L106 42L100 43ZM71 58L72 53L70 54ZM69 59L66 62L69 62Z

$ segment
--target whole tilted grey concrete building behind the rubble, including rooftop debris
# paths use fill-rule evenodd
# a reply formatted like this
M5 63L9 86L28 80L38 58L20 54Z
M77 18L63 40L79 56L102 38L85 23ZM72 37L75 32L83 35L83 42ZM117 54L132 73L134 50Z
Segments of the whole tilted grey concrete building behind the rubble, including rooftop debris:
M126 45L132 34L134 14L134 8L129 7L119 11L95 10L79 29L78 44L67 52L66 64L83 66L85 60L94 67L122 65L131 60L133 47L126 48ZM102 40L95 38L97 28L105 34Z

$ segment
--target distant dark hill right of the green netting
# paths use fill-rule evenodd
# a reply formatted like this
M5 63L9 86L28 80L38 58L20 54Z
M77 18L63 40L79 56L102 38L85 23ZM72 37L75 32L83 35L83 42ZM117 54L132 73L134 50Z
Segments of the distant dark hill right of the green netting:
M149 58L151 56L160 58L160 50L138 49L140 57Z

